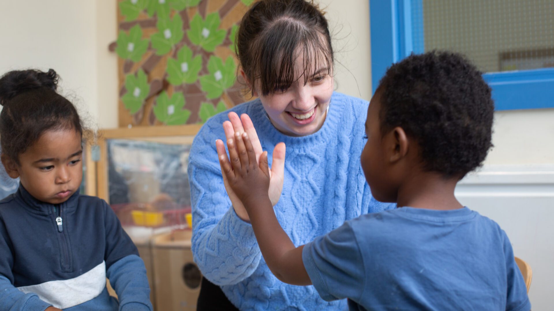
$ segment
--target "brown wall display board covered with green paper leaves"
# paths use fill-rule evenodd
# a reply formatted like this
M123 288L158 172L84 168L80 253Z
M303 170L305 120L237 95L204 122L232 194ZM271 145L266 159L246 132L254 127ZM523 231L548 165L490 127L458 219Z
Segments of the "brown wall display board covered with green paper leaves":
M119 126L191 125L244 102L234 41L254 0L119 0Z

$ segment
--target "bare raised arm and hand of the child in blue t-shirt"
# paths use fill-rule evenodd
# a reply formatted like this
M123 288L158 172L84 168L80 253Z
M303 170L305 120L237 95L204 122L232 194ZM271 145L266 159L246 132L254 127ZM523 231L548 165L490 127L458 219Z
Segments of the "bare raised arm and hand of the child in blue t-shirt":
M269 167L267 152L260 164L248 134L235 134L229 139L229 159L223 142L216 142L219 163L229 185L243 202L248 212L258 245L269 269L281 281L295 285L309 285L310 278L302 263L302 248L295 247L275 217L268 196Z

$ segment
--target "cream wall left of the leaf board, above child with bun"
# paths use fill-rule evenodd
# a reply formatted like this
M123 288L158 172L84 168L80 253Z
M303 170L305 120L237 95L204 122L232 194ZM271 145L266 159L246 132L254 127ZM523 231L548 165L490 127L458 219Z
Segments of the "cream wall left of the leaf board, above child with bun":
M60 91L91 127L117 126L117 58L112 1L18 0L0 3L0 73L53 68ZM101 113L100 113L101 112Z

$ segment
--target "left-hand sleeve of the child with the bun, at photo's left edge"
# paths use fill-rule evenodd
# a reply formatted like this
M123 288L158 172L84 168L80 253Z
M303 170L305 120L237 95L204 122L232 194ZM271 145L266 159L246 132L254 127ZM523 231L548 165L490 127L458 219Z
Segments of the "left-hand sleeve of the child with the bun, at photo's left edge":
M9 247L8 232L0 217L0 311L44 311L49 303L36 294L23 293L13 286L13 256Z

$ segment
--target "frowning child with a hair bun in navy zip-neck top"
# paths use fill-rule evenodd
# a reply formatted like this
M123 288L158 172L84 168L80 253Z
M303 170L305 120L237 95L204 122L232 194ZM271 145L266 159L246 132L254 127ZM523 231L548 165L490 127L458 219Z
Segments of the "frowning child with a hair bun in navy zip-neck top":
M0 77L2 164L20 180L0 200L0 311L151 311L137 248L104 200L79 194L84 128L58 79Z

